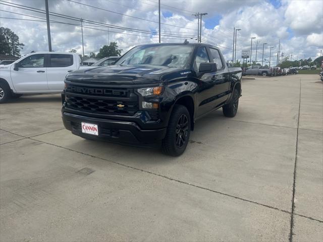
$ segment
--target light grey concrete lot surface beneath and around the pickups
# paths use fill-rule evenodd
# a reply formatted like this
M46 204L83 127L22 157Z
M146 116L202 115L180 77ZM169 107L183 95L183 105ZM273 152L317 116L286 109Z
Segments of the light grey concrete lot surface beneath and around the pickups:
M1 104L0 240L322 241L323 82L259 77L242 95L176 158L72 135L58 94Z

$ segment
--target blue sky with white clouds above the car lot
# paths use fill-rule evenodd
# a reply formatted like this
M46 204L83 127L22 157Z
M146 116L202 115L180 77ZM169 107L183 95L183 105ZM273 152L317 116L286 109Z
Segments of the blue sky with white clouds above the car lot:
M78 19L84 19L85 54L98 52L102 45L111 41L116 41L123 53L138 44L158 43L157 0L48 2L52 13L49 16L51 45L55 51L76 49L82 54L81 22ZM263 57L264 63L268 64L271 53L271 66L276 65L279 41L281 53L292 60L315 59L323 49L321 0L160 0L160 3L161 42L182 43L185 39L197 42L197 18L194 14L207 13L202 17L202 42L217 45L228 61L232 60L234 28L241 29L237 31L236 48L236 58L241 61L241 50L250 49L251 37L255 37L252 61L255 61L257 46L257 62L261 63ZM25 6L33 8L33 11ZM20 42L25 44L21 54L48 50L43 10L45 0L0 2L0 26L10 28L19 36ZM142 33L144 31L146 33Z

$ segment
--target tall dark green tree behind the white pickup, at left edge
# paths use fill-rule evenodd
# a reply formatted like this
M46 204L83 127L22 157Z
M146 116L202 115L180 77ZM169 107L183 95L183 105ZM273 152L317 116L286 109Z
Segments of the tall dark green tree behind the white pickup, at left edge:
M0 27L0 54L20 56L20 49L24 46L19 37L11 29Z

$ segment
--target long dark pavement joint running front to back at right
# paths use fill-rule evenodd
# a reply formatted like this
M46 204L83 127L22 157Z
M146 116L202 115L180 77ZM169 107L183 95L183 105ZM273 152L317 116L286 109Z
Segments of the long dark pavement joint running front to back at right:
M296 184L296 168L297 168L297 149L298 149L298 130L299 130L299 116L301 109L301 91L302 91L302 82L301 78L299 79L299 104L298 104L298 117L297 117L297 129L296 129L296 147L295 147L295 163L294 163L294 174L293 174L293 196L292 196L292 213L291 213L291 225L290 225L290 234L289 241L293 241L293 228L294 228L294 211L295 211L295 184Z

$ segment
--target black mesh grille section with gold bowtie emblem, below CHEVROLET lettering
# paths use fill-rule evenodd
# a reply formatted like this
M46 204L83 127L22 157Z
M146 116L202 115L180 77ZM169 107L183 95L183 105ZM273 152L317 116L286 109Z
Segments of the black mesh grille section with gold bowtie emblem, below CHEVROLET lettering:
M138 111L138 101L118 101L98 97L73 96L66 93L68 108L115 115L134 115Z

